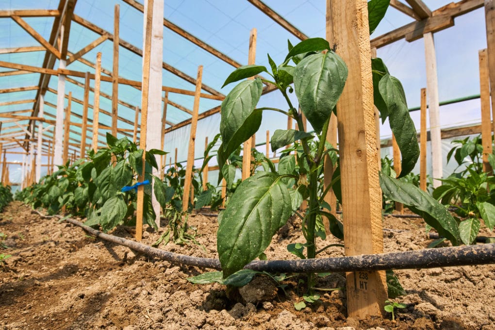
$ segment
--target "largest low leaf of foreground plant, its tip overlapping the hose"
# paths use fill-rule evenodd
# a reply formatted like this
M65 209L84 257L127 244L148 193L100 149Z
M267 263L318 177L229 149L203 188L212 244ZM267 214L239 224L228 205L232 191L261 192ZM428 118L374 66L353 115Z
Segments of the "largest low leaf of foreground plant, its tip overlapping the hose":
M257 258L291 213L289 190L278 175L258 172L242 182L230 198L217 233L224 278Z

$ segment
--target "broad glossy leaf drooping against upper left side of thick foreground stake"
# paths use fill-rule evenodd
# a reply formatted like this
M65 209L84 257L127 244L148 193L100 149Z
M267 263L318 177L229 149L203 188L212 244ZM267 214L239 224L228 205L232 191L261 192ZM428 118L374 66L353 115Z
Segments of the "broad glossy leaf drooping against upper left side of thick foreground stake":
M330 117L346 79L346 63L333 51L306 56L297 64L294 70L297 99L316 132L321 132Z

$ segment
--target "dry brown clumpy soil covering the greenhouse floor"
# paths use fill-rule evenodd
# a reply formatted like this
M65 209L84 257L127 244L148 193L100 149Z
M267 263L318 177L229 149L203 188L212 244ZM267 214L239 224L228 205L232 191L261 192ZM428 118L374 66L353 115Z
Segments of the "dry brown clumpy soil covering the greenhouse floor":
M164 222L166 225L166 222ZM160 248L201 257L217 257L217 217L193 214L197 240ZM425 248L432 240L417 218L384 218L385 251ZM148 229L151 245L164 232ZM255 277L229 299L224 285L193 284L186 279L207 270L173 265L87 236L79 227L45 219L19 202L0 213L6 234L0 253L11 254L0 266L0 330L14 329L495 329L495 265L398 270L407 292L395 301L406 304L385 318L347 318L346 291L321 292L321 298L297 311L299 279L275 285ZM113 235L132 239L134 230L119 227ZM480 235L493 236L482 230ZM291 242L301 242L300 225L290 222L273 238L268 259L288 259ZM338 243L328 237L321 246ZM341 247L321 254L342 256ZM289 274L288 274L289 275ZM345 286L345 275L319 278L318 287ZM241 291L243 291L241 290ZM284 293L284 290L286 293ZM232 298L232 295L231 295Z

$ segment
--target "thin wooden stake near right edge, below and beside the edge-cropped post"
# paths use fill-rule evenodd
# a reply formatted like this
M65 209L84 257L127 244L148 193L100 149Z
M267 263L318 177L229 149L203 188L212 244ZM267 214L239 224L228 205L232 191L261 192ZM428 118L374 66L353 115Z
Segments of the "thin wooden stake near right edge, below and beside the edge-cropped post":
M483 143L483 171L492 172L488 155L492 154L492 120L490 114L490 77L488 69L488 51L479 51L480 62L480 99L481 99L481 141ZM495 54L494 54L495 56Z

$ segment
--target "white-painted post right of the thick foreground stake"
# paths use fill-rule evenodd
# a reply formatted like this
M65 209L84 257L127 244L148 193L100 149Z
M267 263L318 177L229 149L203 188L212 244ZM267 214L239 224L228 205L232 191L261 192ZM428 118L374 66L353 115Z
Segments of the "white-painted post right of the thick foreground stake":
M437 188L442 182L442 136L440 132L440 105L438 98L437 59L435 43L431 32L423 35L426 57L426 88L428 90L428 110L430 113L430 137L432 145L433 187Z

